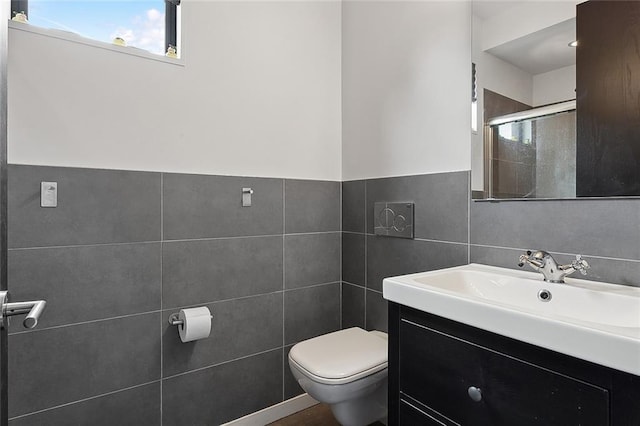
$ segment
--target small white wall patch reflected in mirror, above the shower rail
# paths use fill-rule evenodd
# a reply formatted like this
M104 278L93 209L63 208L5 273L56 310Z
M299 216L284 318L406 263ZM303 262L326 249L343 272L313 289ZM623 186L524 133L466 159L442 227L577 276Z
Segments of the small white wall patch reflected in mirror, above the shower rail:
M533 106L553 104L575 98L575 65L533 76Z

